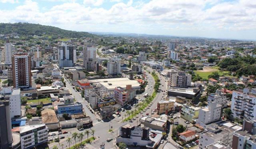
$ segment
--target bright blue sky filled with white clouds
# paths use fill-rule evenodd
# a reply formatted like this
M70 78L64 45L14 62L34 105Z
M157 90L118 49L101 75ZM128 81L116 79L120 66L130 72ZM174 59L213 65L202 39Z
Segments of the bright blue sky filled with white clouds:
M256 40L256 0L0 0L0 22Z

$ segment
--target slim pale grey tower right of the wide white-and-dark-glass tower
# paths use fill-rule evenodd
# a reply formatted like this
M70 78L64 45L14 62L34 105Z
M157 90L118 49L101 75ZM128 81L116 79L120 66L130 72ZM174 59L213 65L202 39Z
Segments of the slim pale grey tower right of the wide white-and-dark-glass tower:
M96 47L91 45L84 46L84 67L88 71L96 70Z

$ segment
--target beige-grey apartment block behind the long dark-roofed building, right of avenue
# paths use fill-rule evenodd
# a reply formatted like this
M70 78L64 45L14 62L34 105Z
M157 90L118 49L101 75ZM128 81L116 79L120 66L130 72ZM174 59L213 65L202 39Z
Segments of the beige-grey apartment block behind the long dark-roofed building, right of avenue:
M186 88L191 86L191 74L184 71L178 71L176 73L170 73L170 86Z

